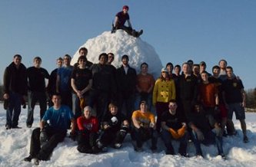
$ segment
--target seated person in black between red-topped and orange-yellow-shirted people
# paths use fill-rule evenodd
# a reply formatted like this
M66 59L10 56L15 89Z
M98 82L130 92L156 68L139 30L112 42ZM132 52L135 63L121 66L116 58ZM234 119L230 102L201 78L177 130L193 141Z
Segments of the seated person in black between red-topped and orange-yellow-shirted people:
M115 149L121 148L129 129L128 120L118 112L118 106L110 103L108 110L109 112L103 117L102 132L97 139L97 146L103 151L106 151L108 145L112 145Z

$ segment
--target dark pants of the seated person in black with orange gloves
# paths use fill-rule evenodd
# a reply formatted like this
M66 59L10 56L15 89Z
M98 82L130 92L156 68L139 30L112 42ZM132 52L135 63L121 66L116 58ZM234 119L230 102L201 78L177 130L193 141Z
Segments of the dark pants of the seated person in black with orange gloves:
M175 151L171 144L171 140L173 139L173 137L171 136L171 133L164 129L161 132L161 139L163 139L163 141L165 142L165 146L167 149L166 152L169 152L170 154L175 154ZM186 156L187 146L188 146L188 133L185 133L185 135L178 140L180 141L178 153L180 153L181 156Z

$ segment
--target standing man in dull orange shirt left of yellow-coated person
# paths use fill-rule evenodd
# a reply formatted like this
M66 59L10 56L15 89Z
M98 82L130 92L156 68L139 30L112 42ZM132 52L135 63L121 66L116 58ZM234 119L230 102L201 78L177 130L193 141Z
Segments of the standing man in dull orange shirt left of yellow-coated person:
M136 84L136 101L135 108L139 108L139 104L142 100L145 100L148 103L148 109L151 110L152 105L152 90L155 85L155 79L151 74L148 74L148 64L141 64L141 73L137 75L137 84Z

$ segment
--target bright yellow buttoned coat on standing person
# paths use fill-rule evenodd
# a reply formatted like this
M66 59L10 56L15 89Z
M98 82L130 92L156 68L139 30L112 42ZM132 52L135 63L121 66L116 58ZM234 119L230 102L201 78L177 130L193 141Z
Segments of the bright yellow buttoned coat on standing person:
M155 81L153 90L153 105L156 102L168 103L170 100L176 99L176 90L174 80L161 80Z

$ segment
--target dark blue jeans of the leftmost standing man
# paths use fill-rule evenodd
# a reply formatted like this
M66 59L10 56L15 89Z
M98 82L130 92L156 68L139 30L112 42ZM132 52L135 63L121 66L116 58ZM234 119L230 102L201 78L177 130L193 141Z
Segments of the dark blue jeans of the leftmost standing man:
M22 110L22 95L19 93L9 93L8 101L5 126L15 127L18 126L18 117Z

